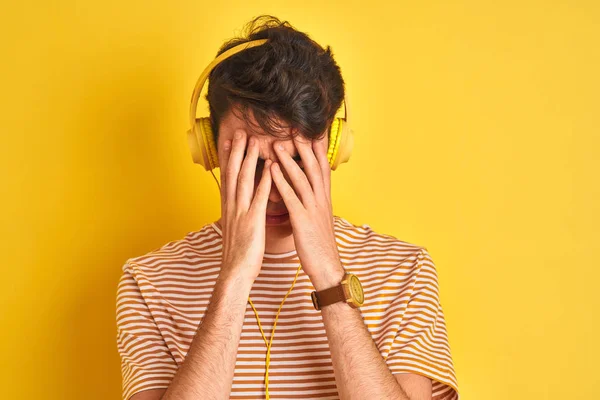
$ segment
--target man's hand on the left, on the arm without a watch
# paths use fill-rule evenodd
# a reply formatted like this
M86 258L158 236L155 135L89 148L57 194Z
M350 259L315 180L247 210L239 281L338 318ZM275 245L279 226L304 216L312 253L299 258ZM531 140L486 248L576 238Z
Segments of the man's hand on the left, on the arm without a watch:
M238 137L239 134L239 137ZM254 282L265 251L265 218L271 190L270 160L265 162L253 198L258 140L251 137L248 151L246 132L224 144L221 168L221 225L223 228L223 261L220 276L239 276ZM243 161L243 163L242 163ZM241 165L240 165L241 164Z

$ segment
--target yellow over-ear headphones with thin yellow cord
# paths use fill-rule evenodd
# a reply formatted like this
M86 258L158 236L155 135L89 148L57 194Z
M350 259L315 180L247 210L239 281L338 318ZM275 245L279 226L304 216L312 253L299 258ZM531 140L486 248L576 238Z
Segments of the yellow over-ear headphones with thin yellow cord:
M207 171L210 171L211 174L212 170L219 166L219 160L217 156L217 146L215 145L214 135L210 126L210 118L196 118L196 111L198 107L198 99L200 98L200 92L204 87L204 83L208 79L208 75L217 64L227 59L228 57L231 57L235 53L238 53L245 49L249 49L254 46L260 46L266 41L267 39L252 40L246 43L239 44L223 52L221 55L215 58L208 65L208 67L204 69L202 75L200 75L200 78L198 79L198 82L196 82L196 86L194 87L194 91L192 92L192 101L190 104L191 129L187 131L187 138L190 150L192 152L192 160L194 161L194 163L202 165ZM345 91L344 118L334 118L333 122L331 123L331 127L329 128L329 148L327 150L327 159L329 160L329 165L332 170L335 170L338 167L338 165L347 162L350 159L350 154L352 153L352 147L354 145L354 136L353 131L350 129L348 115L350 115L350 107L348 105L348 94L347 91ZM215 178L215 181L217 181L217 178L214 174L213 177ZM221 186L219 185L218 181L217 185L220 189ZM279 318L279 312L283 307L283 303L285 302L288 295L294 288L294 285L296 284L296 280L298 279L298 274L300 273L301 268L302 265L299 265L298 269L296 270L296 276L294 277L292 286L284 296L283 301L281 302L281 305L277 310L275 321L273 322L273 329L271 330L271 340L267 341L265 333L260 324L258 312L256 311L252 300L250 299L250 297L248 297L248 302L250 303L250 306L254 310L254 315L256 316L258 328L260 329L260 333L267 346L265 371L265 391L267 400L269 400L269 364L271 358L271 345L273 343L273 338L275 337L275 327L277 326L277 319Z

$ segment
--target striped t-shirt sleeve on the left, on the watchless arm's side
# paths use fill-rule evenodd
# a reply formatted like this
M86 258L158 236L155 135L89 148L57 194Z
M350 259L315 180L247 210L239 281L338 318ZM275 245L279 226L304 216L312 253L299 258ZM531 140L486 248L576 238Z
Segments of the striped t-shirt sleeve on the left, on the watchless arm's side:
M177 371L131 266L123 267L117 289L117 348L121 357L122 395L167 388Z

